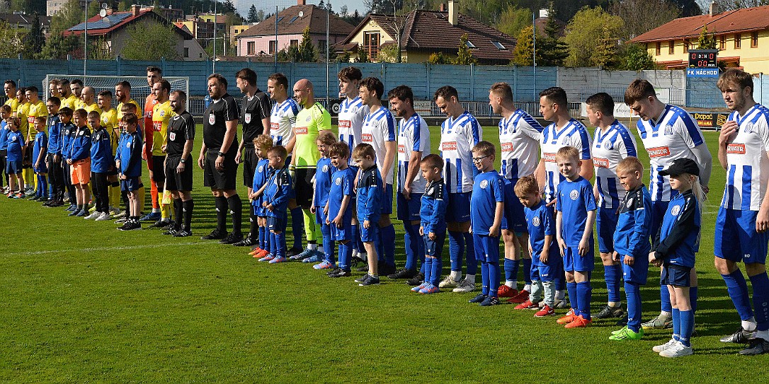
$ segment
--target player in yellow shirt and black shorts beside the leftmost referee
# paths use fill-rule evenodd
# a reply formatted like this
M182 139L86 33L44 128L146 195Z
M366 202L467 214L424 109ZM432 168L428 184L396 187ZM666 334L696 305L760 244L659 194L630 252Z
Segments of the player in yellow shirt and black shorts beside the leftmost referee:
M168 121L175 115L171 109L171 101L168 96L171 94L171 83L168 80L161 79L152 84L152 94L158 102L152 107L152 169L149 171L150 177L158 186L158 200L162 200L165 190L165 144L168 141ZM150 227L166 227L171 224L171 204L160 203L160 220Z

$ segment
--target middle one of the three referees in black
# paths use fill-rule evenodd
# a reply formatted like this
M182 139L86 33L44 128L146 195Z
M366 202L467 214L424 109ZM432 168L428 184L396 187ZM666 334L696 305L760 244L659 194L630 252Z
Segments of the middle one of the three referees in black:
M203 146L198 166L203 170L203 185L211 187L216 206L216 229L203 240L231 244L243 240L242 204L235 190L238 174L238 116L240 108L227 93L227 79L221 74L208 76L208 95L212 102L203 114ZM227 210L232 213L232 233L227 233Z

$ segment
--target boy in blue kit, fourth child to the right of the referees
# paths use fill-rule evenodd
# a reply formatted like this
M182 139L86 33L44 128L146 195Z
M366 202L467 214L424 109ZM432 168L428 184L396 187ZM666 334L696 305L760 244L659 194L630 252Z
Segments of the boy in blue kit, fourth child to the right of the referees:
M355 174L357 170L348 165L350 147L344 142L331 144L328 149L331 157L331 167L335 172L331 175L331 187L328 191L328 201L324 211L325 226L330 231L328 253L333 254L334 242L339 243L339 266L328 272L329 277L350 276L352 260L353 228L352 228L352 202L355 200ZM317 175L317 174L316 174ZM325 236L325 233L324 233ZM325 239L324 239L325 242ZM326 247L324 245L324 247Z

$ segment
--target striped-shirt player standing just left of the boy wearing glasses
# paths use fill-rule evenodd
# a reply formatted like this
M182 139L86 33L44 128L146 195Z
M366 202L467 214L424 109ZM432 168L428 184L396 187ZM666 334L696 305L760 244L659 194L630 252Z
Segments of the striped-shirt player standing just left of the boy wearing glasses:
M446 222L448 227L448 254L451 258L451 274L438 285L441 288L456 286L454 292L468 293L475 289L475 246L470 234L470 195L473 179L478 169L473 166L472 149L481 140L481 125L470 112L459 104L459 94L454 87L444 86L435 91L433 99L441 112L448 117L441 124L441 151L445 166L443 179L448 190ZM466 253L468 273L462 277L462 253Z

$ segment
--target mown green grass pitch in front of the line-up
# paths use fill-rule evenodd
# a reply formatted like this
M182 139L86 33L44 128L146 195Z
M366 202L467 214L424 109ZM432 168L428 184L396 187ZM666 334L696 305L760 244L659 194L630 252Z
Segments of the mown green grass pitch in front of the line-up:
M438 127L431 132L436 148ZM497 128L484 137L496 141ZM198 127L197 148L200 138ZM713 266L724 170L717 133L705 138L714 172L697 255L694 356L651 351L669 330L612 342L614 320L570 330L512 305L469 304L471 294L421 296L386 278L364 288L308 264L257 263L242 248L198 240L215 215L196 168L196 236L184 239L0 199L0 381L764 382L769 356L737 356L741 346L718 342L739 317ZM602 270L594 309L606 300ZM644 319L659 310L656 273L642 291Z

